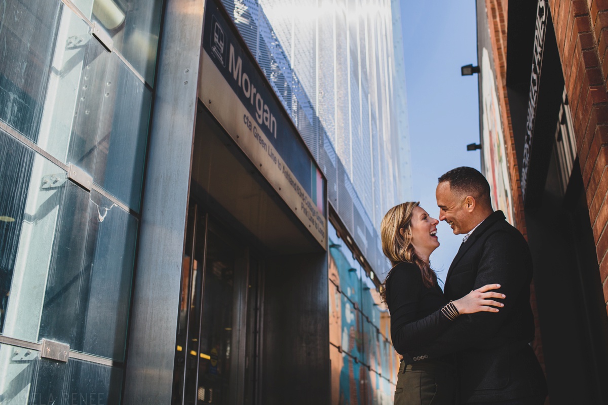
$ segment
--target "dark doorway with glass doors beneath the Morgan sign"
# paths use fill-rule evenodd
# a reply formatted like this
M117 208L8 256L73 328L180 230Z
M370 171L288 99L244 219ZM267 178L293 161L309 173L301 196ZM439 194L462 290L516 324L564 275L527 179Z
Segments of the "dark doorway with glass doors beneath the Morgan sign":
M173 404L253 404L259 265L197 203L188 211Z

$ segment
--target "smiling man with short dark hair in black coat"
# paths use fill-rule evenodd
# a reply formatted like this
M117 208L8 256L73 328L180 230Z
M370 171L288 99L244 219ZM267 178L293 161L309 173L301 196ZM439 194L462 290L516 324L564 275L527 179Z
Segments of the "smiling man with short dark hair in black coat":
M446 333L406 359L454 353L461 403L540 405L547 393L544 374L529 342L534 338L530 308L532 258L528 244L502 211L494 212L490 188L473 168L453 169L437 185L439 219L463 243L446 276L444 293L455 300L486 284L506 295L498 313L461 315Z

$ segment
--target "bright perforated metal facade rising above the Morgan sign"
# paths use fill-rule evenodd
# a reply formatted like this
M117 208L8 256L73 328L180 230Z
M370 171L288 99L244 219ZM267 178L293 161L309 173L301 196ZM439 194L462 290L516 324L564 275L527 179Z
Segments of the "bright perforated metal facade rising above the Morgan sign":
M383 273L382 216L411 194L399 2L223 4L319 162L331 205Z

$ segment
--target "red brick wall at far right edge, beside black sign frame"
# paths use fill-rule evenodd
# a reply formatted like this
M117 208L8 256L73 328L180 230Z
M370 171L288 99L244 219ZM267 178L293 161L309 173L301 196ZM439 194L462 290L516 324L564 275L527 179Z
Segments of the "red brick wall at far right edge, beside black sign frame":
M608 0L549 0L608 301ZM608 307L607 307L608 310Z

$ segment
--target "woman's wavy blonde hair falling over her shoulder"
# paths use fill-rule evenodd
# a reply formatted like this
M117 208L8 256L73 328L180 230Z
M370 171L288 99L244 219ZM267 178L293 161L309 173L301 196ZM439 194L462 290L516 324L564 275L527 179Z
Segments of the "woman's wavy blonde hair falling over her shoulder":
M412 245L412 214L414 208L419 205L420 202L405 202L389 209L380 225L382 251L389 258L393 268L402 262L413 263L420 267L423 284L430 288L437 284L437 274L428 263L418 257ZM392 269L382 283L380 295L383 301L386 301L386 281L390 273Z

